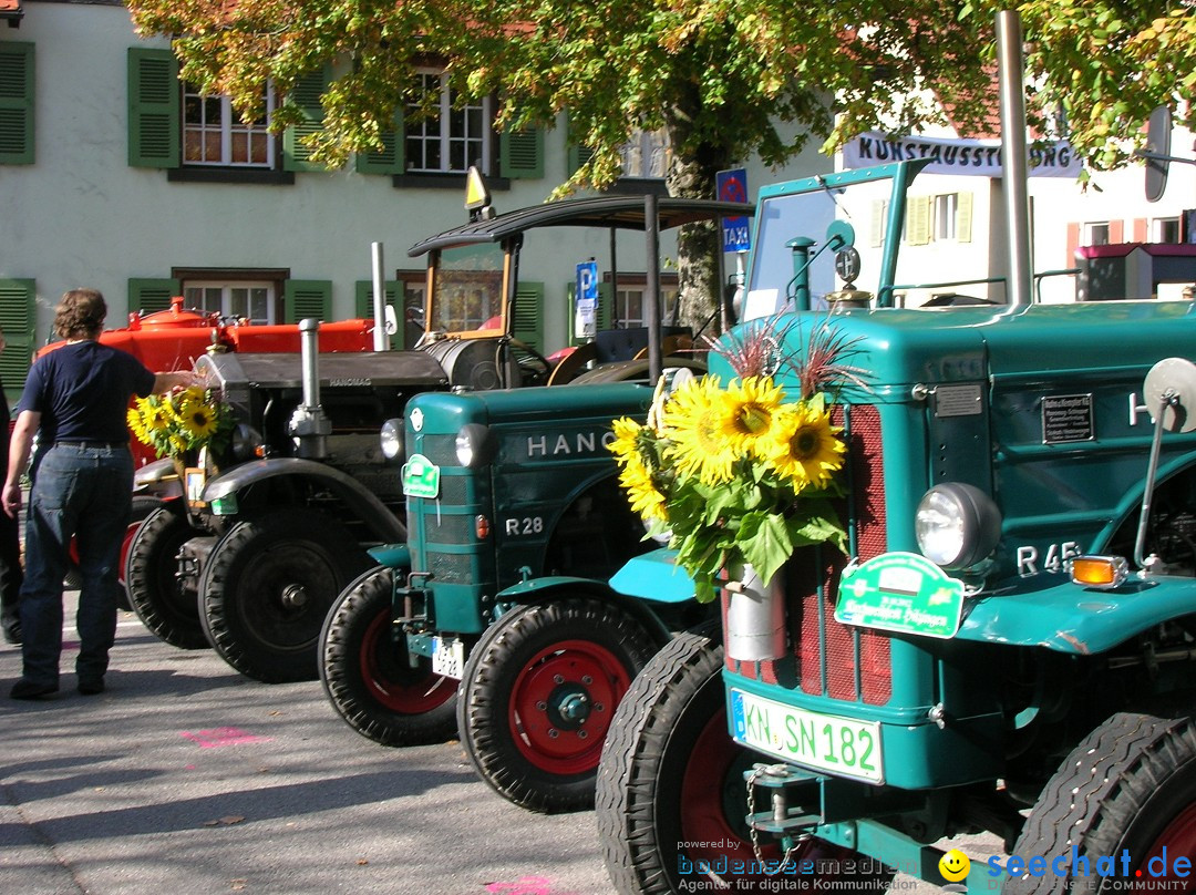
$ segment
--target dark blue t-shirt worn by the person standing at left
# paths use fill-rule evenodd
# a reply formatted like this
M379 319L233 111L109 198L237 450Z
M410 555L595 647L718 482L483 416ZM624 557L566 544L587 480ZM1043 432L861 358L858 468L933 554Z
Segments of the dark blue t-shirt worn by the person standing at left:
M65 345L29 370L17 410L42 414L41 442L128 442L129 398L153 391L154 375L128 352L93 341Z

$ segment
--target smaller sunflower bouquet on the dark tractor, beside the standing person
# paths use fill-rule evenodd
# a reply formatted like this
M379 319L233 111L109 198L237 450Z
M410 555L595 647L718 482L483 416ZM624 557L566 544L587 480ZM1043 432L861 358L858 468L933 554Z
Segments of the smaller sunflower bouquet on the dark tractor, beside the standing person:
M232 408L220 400L219 392L199 385L139 397L127 419L139 442L176 463L203 448L220 452L234 426Z

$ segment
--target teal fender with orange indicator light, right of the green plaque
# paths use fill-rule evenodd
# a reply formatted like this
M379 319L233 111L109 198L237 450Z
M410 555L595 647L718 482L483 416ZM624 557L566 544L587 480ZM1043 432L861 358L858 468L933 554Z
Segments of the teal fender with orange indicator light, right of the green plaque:
M1062 579L1044 589L976 601L956 639L1092 656L1160 622L1191 615L1194 598L1196 582L1191 578L1127 582L1117 590L1096 590Z

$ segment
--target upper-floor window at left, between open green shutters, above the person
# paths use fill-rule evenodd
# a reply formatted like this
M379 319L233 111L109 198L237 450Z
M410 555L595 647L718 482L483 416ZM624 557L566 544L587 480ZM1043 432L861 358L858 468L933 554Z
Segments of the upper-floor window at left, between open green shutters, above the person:
M270 116L274 93L266 91L261 116L246 124L228 97L205 96L191 84L183 84L183 164L274 166L274 138Z

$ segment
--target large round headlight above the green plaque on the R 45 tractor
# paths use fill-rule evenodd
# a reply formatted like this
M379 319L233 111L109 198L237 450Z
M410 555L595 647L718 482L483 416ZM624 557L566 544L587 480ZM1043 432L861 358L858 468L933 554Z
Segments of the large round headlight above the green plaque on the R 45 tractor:
M971 485L935 485L917 503L914 532L928 560L944 568L966 568L996 547L1001 511L988 494Z

